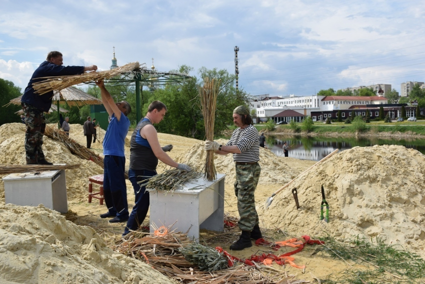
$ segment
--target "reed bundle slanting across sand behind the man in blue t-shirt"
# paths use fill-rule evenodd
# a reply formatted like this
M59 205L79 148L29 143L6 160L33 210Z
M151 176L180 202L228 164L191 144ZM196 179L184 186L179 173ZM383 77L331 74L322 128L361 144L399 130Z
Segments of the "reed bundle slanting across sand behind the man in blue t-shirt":
M99 165L101 168L103 168L103 158L101 158L99 155L97 155L90 149L87 149L86 147L82 146L75 140L72 140L71 138L69 138L69 136L65 135L63 132L59 132L57 130L54 130L53 128L46 126L44 135L50 139L57 140L65 144L66 148L68 148L69 151L75 156L84 160L93 161L94 163Z

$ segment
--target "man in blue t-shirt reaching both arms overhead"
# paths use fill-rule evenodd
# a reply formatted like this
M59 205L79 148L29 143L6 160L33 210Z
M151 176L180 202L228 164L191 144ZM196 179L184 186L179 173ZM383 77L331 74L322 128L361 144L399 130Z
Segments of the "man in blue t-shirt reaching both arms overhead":
M113 217L109 223L125 222L128 220L128 205L124 140L130 127L127 115L131 107L126 101L115 104L103 81L96 82L96 85L100 88L103 106L111 117L103 139L103 195L108 211L100 217Z

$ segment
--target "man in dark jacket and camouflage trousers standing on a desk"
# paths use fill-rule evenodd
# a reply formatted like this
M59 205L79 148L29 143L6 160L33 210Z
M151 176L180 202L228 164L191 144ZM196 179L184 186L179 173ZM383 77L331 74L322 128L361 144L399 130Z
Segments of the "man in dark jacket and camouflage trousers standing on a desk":
M21 107L24 113L25 132L25 154L26 164L52 165L46 161L41 146L43 145L43 135L45 130L44 112L48 112L51 107L53 91L43 95L35 93L32 84L45 79L42 77L54 77L64 75L77 75L85 71L95 71L97 66L62 66L62 54L58 51L51 51L47 54L46 61L40 64L32 74L21 99Z

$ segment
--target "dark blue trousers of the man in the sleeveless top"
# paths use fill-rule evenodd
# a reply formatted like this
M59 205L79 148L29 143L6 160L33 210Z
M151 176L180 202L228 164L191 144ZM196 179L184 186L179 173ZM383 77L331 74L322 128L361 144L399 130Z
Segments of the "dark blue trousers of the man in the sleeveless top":
M134 189L135 204L131 210L123 235L128 234L130 230L138 229L146 217L149 209L149 192L146 191L146 186L140 186L137 182L144 181L154 175L156 175L156 172L149 170L128 170L128 179Z

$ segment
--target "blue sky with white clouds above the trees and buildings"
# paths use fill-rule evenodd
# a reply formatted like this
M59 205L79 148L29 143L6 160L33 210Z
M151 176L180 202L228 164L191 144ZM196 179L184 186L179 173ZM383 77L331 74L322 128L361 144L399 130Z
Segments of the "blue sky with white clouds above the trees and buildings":
M251 95L425 82L425 2L0 0L0 78L22 92L49 51L64 65L138 61L234 74Z

